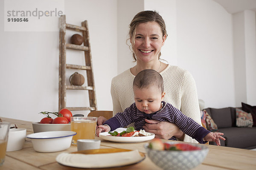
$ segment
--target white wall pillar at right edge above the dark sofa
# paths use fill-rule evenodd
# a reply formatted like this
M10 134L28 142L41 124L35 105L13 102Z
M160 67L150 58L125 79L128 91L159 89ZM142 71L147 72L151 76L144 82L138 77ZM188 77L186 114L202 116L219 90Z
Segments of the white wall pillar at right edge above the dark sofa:
M233 15L236 105L256 105L256 17L245 10Z

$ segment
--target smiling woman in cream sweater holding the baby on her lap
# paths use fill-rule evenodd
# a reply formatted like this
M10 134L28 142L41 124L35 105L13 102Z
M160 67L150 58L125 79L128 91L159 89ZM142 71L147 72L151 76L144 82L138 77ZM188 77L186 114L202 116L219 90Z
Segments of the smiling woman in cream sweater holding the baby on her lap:
M166 25L160 14L156 11L141 11L136 14L130 23L129 36L136 65L112 79L113 114L123 112L134 103L134 77L142 70L152 69L163 77L166 92L164 101L201 125L197 89L192 75L182 68L160 61L160 51L167 38ZM98 125L105 121L106 119L98 119ZM156 138L171 139L175 136L185 142L197 143L170 122L148 119L145 122L143 129L154 133Z

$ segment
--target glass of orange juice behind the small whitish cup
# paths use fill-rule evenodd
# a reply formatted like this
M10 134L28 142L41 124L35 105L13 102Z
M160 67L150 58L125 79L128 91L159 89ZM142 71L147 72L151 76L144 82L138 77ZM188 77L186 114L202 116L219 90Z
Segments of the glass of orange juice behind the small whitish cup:
M94 139L97 117L71 117L71 131L76 132L73 136L72 145L76 146L78 139Z

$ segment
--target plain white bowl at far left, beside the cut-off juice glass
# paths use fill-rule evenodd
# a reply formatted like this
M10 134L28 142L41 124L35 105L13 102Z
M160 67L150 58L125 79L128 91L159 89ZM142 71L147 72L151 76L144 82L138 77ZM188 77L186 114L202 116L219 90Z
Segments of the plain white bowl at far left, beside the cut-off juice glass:
M21 150L26 139L26 129L10 129L6 151Z

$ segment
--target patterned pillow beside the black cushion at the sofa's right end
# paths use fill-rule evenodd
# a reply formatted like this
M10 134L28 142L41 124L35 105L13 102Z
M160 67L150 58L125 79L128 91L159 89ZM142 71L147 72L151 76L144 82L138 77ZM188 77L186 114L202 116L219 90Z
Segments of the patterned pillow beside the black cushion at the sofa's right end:
M236 108L236 126L237 127L253 127L253 116L251 113Z

